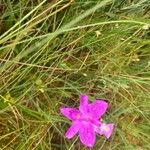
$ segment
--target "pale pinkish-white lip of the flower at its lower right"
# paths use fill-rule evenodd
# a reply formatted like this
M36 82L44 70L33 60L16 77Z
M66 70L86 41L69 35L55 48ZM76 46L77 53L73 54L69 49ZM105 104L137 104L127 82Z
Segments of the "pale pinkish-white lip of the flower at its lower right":
M106 138L108 139L112 135L113 128L114 128L113 123L110 124L102 123L99 130L97 130L96 132L99 133L100 135L105 135Z

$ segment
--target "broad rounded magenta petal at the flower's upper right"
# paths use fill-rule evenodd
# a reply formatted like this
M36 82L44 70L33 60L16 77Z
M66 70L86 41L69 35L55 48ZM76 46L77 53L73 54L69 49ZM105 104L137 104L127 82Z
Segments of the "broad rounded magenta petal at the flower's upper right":
M95 119L99 119L108 107L108 103L102 100L95 100L92 104L88 105L89 114Z

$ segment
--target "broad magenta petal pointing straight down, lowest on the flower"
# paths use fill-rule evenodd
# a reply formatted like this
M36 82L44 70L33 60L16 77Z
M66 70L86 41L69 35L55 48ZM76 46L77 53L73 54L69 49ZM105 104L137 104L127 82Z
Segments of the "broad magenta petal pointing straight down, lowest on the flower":
M84 123L79 129L79 136L81 142L88 146L93 147L95 144L96 135L94 132L94 127L90 123Z

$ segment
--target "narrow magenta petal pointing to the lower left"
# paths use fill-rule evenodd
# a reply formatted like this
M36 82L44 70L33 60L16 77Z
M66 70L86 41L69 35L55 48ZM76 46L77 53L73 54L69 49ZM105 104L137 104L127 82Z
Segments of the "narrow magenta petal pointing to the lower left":
M65 137L71 139L79 131L79 128L80 128L80 122L74 121L71 127L65 133Z

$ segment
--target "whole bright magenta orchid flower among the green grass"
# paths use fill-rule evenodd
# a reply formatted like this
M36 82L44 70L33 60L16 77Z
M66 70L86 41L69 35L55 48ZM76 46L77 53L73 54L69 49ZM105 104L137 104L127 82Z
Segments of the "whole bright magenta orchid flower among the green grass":
M81 95L79 109L61 108L61 113L72 121L71 127L65 134L66 138L71 139L79 133L81 142L88 147L94 146L96 133L109 138L114 124L105 124L100 121L107 107L108 103L103 100L95 100L93 103L88 104L88 96Z

